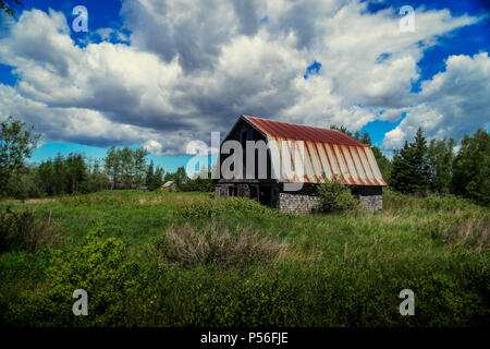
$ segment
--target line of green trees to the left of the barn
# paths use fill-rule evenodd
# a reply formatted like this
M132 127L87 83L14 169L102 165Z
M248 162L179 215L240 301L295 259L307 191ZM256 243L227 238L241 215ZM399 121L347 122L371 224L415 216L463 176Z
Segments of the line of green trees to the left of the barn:
M114 189L157 190L173 181L181 191L211 191L210 172L189 178L184 167L175 172L148 164L143 147L115 147L102 159L82 154L58 154L40 164L28 164L40 135L33 127L9 117L0 124L0 197L44 197Z

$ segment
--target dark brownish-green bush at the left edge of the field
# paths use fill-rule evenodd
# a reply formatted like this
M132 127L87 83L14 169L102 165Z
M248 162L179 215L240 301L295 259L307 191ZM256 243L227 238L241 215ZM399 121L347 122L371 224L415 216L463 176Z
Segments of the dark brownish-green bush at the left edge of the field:
M0 210L0 253L8 251L34 252L42 243L56 238L48 217L30 210L20 213L10 207Z

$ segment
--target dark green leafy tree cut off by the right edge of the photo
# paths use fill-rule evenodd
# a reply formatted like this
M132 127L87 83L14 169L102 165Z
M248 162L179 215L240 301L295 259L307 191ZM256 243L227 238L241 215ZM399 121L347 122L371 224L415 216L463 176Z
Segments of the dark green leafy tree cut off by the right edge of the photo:
M454 159L452 183L456 194L490 205L490 135L479 129L465 135Z

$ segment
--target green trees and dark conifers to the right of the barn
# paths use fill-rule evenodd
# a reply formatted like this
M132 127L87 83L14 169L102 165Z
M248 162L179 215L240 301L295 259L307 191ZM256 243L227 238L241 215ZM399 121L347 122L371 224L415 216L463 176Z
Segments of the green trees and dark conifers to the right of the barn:
M490 204L490 135L478 129L464 135L461 144L452 137L430 140L419 128L414 141L405 141L389 159L372 146L368 133L350 132L345 127L331 125L362 143L371 146L383 179L395 191L405 194L455 194L475 202Z

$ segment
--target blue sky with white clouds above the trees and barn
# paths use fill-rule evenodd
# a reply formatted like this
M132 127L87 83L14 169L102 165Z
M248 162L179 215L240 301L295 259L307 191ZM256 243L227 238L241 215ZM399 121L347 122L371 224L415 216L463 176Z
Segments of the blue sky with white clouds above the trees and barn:
M0 120L44 134L34 161L140 145L168 171L242 113L343 123L387 154L418 125L489 129L485 1L282 1L26 0L1 17ZM88 33L71 28L75 5ZM402 5L414 33L396 31Z

